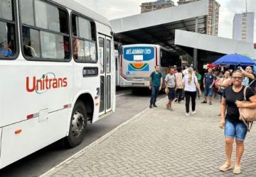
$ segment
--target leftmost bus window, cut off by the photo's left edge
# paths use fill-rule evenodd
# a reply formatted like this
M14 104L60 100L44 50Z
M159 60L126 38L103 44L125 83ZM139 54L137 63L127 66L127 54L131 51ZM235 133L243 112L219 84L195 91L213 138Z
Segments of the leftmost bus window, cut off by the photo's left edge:
M11 59L16 55L14 1L1 0L0 9L0 58Z

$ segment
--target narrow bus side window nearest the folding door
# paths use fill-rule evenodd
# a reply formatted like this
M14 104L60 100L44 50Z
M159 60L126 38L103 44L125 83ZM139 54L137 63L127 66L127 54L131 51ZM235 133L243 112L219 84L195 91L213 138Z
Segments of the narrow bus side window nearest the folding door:
M97 62L95 23L72 15L73 57L77 62Z

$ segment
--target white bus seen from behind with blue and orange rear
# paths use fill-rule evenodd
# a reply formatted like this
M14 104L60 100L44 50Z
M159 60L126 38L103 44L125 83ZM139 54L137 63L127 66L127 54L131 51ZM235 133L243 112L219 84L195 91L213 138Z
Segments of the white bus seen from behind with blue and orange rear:
M156 65L166 75L166 68L178 62L178 55L160 45L123 45L119 86L148 87L151 72Z

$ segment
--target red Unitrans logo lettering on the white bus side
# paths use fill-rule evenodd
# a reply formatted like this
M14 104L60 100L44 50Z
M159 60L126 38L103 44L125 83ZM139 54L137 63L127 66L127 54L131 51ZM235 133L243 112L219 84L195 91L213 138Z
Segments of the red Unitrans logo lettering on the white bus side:
M32 78L26 77L26 90L28 92L36 91L36 93L45 93L50 89L59 89L68 86L68 79L56 78L55 74L52 72L43 74L40 79L36 79L36 76Z

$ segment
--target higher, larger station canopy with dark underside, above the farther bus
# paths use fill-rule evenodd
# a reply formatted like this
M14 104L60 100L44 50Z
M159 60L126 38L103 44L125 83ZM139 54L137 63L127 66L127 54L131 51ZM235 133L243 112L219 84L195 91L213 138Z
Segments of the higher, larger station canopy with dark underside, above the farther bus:
M175 30L195 31L198 18L198 33L206 33L208 0L173 6L134 16L110 21L114 40L122 45L157 44L177 54L185 54L174 45Z

